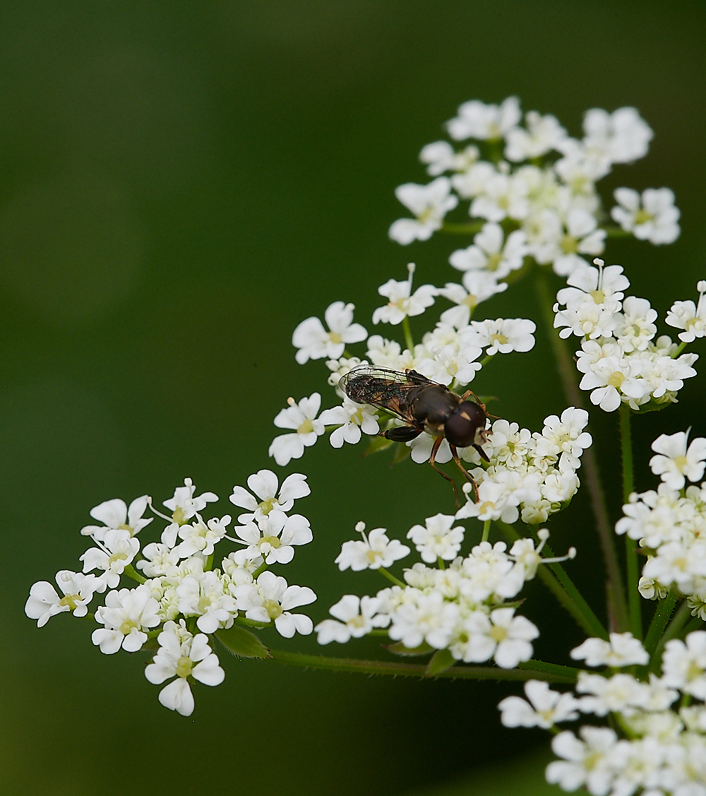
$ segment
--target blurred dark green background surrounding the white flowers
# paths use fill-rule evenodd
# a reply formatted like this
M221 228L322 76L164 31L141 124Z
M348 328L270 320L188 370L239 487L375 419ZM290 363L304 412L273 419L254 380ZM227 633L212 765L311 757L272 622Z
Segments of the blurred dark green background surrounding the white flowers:
M33 581L77 568L100 501L162 501L189 475L224 513L233 484L275 467L287 396L321 388L333 404L324 365L294 363L302 318L343 299L371 328L376 288L409 259L423 281L452 278L458 240L400 248L387 229L404 214L393 189L426 181L419 149L464 100L517 94L574 134L588 107L638 107L650 154L603 188L669 185L683 233L670 247L611 242L607 260L661 314L692 298L706 259L704 17L689 2L0 3L2 793L549 792L546 736L498 721L514 686L222 655L225 684L198 688L184 719L158 704L139 655L99 654L88 622L66 615L39 631L23 605ZM487 312L540 319L523 287ZM565 406L538 339L477 386L534 429ZM703 407L702 375L636 421L638 489L650 440L706 432ZM614 515L616 422L592 416ZM301 510L315 542L285 574L317 591L315 621L345 591L378 587L333 565L355 522L402 537L453 508L431 468L360 453L319 443L285 470L313 490ZM552 540L579 548L572 576L602 611L584 497ZM537 654L564 661L579 630L533 584L529 596ZM365 640L326 652L383 654Z

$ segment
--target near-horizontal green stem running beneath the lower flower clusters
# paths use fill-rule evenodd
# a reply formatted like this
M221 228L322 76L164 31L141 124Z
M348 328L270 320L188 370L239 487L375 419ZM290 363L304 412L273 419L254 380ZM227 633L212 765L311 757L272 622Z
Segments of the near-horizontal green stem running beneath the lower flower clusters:
M361 674L391 674L393 677L427 677L427 666L423 664L392 663L389 661L358 661L345 657L304 655L284 650L270 650L271 660L291 666L306 666L308 669L330 669L337 672ZM561 667L562 669L568 667ZM568 669L572 672L574 670ZM578 671L578 670L576 670ZM497 666L451 666L435 677L464 680L544 680L550 683L573 683L575 676L567 673L549 673L536 669L500 669Z

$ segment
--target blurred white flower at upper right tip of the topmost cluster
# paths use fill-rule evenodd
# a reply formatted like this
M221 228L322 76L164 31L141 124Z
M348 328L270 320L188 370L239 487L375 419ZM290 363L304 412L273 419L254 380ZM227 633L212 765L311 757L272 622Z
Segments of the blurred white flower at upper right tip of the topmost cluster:
M592 108L583 117L583 131L585 146L602 151L612 163L644 158L654 135L634 107L619 107L611 114Z

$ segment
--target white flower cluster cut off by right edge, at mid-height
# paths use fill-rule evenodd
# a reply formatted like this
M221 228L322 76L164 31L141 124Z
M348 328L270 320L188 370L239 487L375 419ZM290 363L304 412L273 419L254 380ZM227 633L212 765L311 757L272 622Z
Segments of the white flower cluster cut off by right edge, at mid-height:
M687 447L688 446L688 447ZM616 533L638 541L647 561L639 589L646 599L663 598L670 587L689 597L692 613L706 619L706 439L688 444L688 432L657 437L649 460L661 477L657 490L631 494Z

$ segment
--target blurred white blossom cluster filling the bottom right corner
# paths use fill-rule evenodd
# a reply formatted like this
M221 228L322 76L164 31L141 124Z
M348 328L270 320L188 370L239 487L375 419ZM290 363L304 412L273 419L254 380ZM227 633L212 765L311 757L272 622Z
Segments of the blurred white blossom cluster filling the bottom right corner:
M571 657L609 668L579 673L574 693L528 681L527 700L508 696L498 705L506 727L555 733L559 759L547 767L548 782L592 796L706 796L706 632L668 641L659 677L616 671L649 661L629 633L610 634L610 642L589 638ZM581 714L610 716L611 726L559 732L557 724Z

